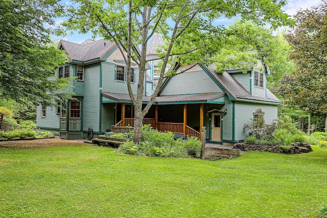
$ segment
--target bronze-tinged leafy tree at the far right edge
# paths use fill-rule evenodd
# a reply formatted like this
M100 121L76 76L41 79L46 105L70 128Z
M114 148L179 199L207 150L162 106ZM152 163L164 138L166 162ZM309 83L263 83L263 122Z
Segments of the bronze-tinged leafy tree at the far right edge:
M291 106L309 114L324 114L327 131L327 1L299 11L295 17L298 26L286 34L286 39L292 49L289 58L297 69L281 79L278 92Z

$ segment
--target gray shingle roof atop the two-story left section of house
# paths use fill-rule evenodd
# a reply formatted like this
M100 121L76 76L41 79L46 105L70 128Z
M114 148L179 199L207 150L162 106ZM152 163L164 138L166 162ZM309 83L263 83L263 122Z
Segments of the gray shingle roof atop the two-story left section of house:
M100 39L93 41L90 39L85 40L82 44L61 40L65 51L72 60L89 61L101 58L105 55L111 46L112 42Z

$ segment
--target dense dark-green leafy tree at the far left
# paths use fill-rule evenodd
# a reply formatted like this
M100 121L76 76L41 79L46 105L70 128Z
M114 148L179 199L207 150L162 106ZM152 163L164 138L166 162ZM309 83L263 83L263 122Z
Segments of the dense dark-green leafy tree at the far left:
M68 79L48 80L66 60L49 45L60 8L54 0L0 1L0 98L51 105L55 91L67 86Z

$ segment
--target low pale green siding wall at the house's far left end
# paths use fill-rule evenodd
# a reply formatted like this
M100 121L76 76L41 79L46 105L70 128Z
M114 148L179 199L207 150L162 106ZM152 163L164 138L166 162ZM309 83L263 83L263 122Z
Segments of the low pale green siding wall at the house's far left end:
M46 107L45 117L41 117L41 105L36 107L36 126L59 129L60 114L56 114L55 107Z

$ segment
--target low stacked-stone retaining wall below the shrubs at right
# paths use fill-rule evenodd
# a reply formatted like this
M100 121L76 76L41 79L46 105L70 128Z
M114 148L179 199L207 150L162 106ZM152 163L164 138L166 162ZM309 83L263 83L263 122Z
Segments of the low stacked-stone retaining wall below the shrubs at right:
M289 150L289 154L300 154L311 152L312 148L310 144L305 142L294 142ZM258 144L247 144L245 142L237 143L233 146L233 149L240 149L241 151L260 151L260 152L272 152L272 153L285 153L284 149L280 146L261 146Z

